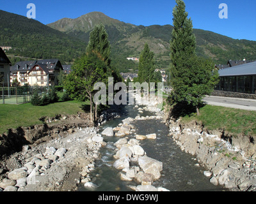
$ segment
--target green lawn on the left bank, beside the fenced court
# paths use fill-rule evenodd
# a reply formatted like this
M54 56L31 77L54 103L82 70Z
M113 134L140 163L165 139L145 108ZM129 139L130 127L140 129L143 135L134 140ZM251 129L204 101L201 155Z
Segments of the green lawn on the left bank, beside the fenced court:
M18 128L20 126L32 126L42 124L38 120L43 116L54 117L57 114L72 115L81 112L83 103L78 101L65 101L52 103L47 106L33 106L31 103L20 105L0 105L0 134L6 132L10 128Z

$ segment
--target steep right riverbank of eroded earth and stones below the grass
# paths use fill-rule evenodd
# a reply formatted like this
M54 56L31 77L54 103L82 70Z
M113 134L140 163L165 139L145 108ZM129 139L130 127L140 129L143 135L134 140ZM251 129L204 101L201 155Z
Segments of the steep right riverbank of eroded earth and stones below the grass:
M252 136L232 135L225 129L208 130L202 122L173 117L166 119L166 125L180 149L196 156L198 163L209 170L204 174L212 184L230 191L255 191L256 148Z

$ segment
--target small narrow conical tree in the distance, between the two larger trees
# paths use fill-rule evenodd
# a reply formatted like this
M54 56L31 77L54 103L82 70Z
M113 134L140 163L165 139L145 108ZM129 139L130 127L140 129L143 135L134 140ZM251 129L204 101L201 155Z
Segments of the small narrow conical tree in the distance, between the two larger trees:
M145 43L144 49L140 54L138 67L138 82L153 82L154 80L154 52L150 51L148 44Z

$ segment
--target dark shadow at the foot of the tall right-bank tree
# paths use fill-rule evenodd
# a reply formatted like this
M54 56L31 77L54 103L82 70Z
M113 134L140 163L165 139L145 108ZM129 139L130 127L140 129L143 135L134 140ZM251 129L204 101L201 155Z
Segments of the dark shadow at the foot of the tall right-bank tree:
M204 104L201 104L199 108L204 107ZM177 120L180 117L185 117L185 116L191 116L196 114L196 107L192 105L188 105L188 103L176 103L173 105L173 108L170 112L170 117L173 119Z

